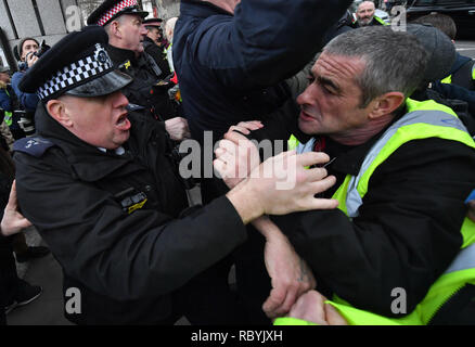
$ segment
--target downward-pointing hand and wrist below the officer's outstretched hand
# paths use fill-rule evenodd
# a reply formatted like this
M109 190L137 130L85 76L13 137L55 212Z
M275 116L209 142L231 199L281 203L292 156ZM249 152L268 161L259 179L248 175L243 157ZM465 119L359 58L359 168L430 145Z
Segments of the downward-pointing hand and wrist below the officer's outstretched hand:
M295 300L316 286L310 268L295 252L287 237L269 218L260 217L253 226L266 237L264 257L272 291L262 309L269 318L286 314Z

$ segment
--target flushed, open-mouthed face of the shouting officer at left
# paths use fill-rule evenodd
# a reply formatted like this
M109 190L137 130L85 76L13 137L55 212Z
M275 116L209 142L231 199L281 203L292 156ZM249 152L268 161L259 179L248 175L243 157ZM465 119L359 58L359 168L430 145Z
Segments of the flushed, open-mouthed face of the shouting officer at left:
M116 91L112 94L94 98L62 95L72 131L82 141L104 149L116 149L130 136L130 121L127 119L127 98Z

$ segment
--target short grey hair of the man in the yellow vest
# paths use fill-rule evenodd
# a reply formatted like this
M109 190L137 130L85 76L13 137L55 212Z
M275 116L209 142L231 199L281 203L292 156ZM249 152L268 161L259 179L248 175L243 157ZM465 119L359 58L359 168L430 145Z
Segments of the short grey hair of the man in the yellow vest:
M428 60L427 52L415 37L393 31L388 26L344 33L330 41L323 52L359 57L365 63L363 73L356 76L362 91L361 108L390 91L410 97L421 85Z

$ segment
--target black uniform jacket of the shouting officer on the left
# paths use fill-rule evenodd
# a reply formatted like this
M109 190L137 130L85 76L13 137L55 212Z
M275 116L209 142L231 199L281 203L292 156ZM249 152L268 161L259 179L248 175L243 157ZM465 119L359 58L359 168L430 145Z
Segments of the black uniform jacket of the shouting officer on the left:
M22 211L63 267L65 290L81 291L82 313L69 317L78 323L163 322L174 291L246 237L226 197L183 211L162 124L129 119L121 156L79 140L43 107L37 112L43 140L15 146Z

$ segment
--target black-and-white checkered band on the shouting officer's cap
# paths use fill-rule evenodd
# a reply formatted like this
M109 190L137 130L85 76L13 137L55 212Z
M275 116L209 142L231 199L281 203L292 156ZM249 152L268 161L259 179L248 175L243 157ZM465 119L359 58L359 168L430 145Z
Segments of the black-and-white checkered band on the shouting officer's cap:
M79 82L99 75L112 67L113 65L110 60L101 63L97 61L93 55L87 56L57 72L42 87L38 88L38 97L42 100L54 93L57 93L63 89L70 89L69 87L76 86Z

